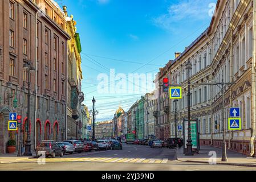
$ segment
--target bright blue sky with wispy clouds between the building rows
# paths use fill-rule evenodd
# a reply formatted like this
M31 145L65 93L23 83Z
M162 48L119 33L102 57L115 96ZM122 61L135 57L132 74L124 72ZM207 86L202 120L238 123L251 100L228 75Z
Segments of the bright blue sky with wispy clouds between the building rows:
M157 73L174 52L184 51L210 24L217 0L57 0L74 15L82 42L84 104L96 99L97 121L113 117L145 93L99 93L97 76ZM130 62L134 63L130 63ZM150 65L143 65L150 62ZM135 64L136 63L136 64ZM140 63L140 64L139 64ZM141 68L143 66L143 68ZM153 91L153 90L152 90Z

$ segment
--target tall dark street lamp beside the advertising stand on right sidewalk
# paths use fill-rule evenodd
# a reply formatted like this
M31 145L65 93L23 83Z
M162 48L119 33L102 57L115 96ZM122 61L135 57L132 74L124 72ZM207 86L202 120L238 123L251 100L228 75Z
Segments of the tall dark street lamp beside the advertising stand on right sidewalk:
M191 139L191 126L190 126L190 69L192 69L192 64L190 60L185 64L186 70L188 71L188 142L186 144L186 154L185 155L193 155L192 152L192 139Z

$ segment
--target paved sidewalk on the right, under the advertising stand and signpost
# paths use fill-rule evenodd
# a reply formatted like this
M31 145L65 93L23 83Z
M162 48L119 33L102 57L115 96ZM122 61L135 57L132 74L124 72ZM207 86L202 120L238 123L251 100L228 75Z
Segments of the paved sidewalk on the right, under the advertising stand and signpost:
M222 150L218 147L213 146L201 146L199 154L194 154L193 156L186 156L183 154L183 148L176 151L177 160L181 162L193 162L193 163L207 163L209 164L210 151L215 151L217 153L217 164L233 165L233 166L246 166L246 167L256 167L256 158L249 158L245 155L239 154L237 152L227 150L227 162L221 162ZM210 160L212 162L212 160Z

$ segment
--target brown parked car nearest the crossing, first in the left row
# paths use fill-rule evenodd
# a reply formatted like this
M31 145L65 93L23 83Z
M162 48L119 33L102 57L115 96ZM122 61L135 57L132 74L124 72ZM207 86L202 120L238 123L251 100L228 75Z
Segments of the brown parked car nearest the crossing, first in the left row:
M40 145L36 147L35 154L37 158L42 155L42 152L45 152L46 156L51 156L52 158L55 158L56 155L60 157L64 155L63 148L53 140L43 140Z

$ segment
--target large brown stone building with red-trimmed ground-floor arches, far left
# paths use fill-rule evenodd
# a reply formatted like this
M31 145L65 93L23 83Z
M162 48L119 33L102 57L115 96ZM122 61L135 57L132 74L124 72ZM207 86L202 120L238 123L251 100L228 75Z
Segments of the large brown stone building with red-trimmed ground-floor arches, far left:
M30 132L31 149L43 139L65 139L70 39L65 31L66 16L49 0L0 3L0 152L6 152L9 139L18 141L18 134L7 130L10 112L22 115L23 143ZM29 103L29 73L23 69L28 60L35 69L30 71Z

